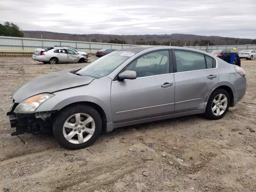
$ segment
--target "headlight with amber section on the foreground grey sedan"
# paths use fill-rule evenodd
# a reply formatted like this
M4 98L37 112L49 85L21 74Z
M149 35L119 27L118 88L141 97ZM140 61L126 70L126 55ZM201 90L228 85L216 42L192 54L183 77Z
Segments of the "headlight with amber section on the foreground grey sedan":
M33 113L40 106L40 104L53 96L54 94L42 93L27 98L20 104L18 104L18 106L14 110L14 113Z

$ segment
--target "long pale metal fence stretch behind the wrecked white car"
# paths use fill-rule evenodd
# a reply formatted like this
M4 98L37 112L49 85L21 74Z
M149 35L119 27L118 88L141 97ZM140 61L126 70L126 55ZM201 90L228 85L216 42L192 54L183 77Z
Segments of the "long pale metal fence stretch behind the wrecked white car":
M0 50L34 50L51 46L71 46L79 51L97 51L104 48L122 49L138 45L95 43L82 41L66 41L51 39L35 39L0 36Z

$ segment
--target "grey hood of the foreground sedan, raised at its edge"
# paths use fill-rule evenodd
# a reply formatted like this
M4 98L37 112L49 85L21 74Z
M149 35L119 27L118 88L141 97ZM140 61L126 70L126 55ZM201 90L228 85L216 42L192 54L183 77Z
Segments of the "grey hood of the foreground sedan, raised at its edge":
M12 98L14 98L16 103L20 103L26 98L40 93L53 93L63 89L86 85L94 80L92 77L72 74L70 71L53 72L33 78L17 88Z

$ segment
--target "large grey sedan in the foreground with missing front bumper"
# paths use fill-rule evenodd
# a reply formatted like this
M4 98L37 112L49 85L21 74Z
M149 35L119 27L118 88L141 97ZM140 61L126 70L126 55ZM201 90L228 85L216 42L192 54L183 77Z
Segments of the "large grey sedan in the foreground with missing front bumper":
M245 92L239 66L200 50L142 46L30 80L7 115L11 135L49 128L62 146L79 149L122 126L192 114L220 119Z

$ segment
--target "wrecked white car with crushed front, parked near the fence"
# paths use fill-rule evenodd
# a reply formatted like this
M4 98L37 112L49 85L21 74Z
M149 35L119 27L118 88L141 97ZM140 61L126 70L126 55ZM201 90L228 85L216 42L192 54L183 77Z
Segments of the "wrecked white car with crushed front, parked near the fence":
M88 56L78 54L69 48L53 48L45 52L35 50L32 60L40 61L44 64L56 64L61 62L83 63L88 61Z

